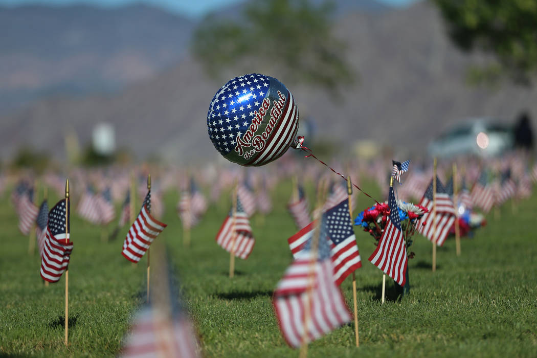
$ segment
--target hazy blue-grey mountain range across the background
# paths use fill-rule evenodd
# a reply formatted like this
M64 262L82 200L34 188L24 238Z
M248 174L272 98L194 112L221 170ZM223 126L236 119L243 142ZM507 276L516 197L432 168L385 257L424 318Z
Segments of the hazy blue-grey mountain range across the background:
M310 87L290 88L318 136L342 148L369 139L422 152L434 135L469 117L512 121L528 109L535 118L535 89L466 84L467 66L483 57L456 50L429 3L406 9L373 0L337 4L335 31L347 42L360 81L337 100ZM235 16L241 6L221 13ZM189 54L195 25L141 5L0 10L0 31L10 34L0 37L2 156L30 145L61 158L66 130L85 143L96 123L110 122L118 145L141 158L218 157L206 115L226 81L209 79Z

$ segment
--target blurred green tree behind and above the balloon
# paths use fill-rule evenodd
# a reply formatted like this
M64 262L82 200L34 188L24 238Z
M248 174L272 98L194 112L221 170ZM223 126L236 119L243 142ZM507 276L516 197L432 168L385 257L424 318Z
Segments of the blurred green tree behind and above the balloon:
M345 44L332 35L333 6L306 0L256 0L237 20L209 16L192 40L209 75L224 70L281 75L284 83L320 86L336 94L354 80Z

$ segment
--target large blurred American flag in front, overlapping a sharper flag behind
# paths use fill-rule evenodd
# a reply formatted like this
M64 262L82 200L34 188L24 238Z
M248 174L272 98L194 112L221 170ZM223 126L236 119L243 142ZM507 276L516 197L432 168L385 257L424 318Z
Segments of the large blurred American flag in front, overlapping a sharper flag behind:
M273 295L280 330L287 344L295 348L352 320L333 280L327 233L320 230L318 254L307 245L287 268Z

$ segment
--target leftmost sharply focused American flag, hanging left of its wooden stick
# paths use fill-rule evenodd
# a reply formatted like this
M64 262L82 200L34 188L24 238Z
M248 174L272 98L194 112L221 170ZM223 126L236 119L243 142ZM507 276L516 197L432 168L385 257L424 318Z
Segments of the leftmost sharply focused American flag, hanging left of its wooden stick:
M60 281L60 277L69 266L72 243L69 238L69 200L67 203L67 217L66 199L57 202L48 213L45 245L41 256L41 278L48 282Z

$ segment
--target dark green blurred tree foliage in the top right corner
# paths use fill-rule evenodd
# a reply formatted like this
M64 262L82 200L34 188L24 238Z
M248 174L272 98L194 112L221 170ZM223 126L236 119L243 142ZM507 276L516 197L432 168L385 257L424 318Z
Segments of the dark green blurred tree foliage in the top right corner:
M495 63L471 69L471 81L492 82L509 76L516 83L531 84L537 75L537 1L432 1L459 48L480 49L495 57Z

